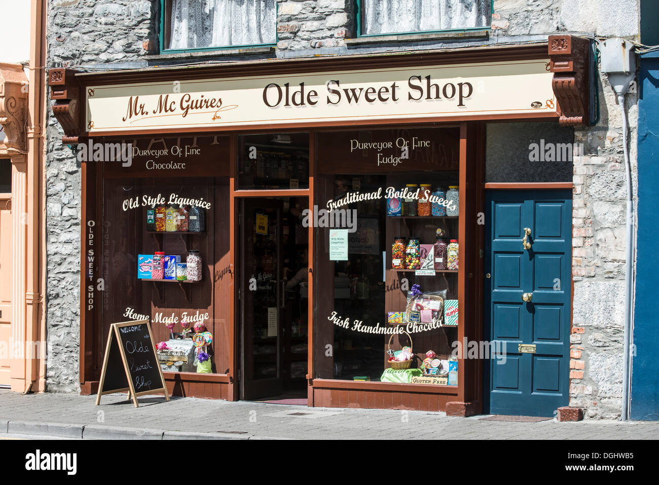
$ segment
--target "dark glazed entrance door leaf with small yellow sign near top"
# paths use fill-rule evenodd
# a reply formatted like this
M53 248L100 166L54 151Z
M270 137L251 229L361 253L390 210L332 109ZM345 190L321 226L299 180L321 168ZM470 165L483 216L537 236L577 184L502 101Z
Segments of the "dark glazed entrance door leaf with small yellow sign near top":
M241 399L279 395L284 301L283 202L243 199L241 227Z

